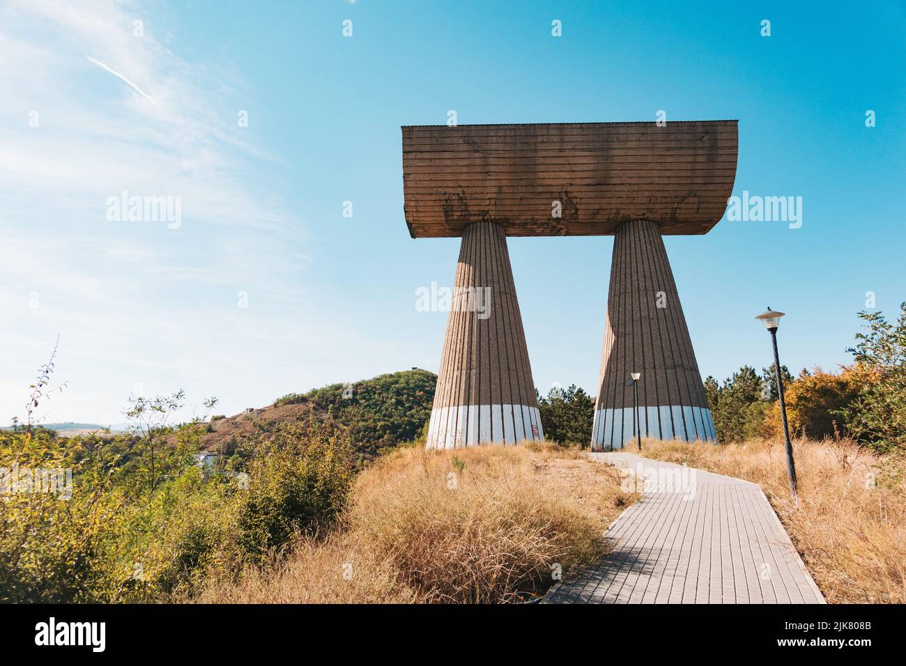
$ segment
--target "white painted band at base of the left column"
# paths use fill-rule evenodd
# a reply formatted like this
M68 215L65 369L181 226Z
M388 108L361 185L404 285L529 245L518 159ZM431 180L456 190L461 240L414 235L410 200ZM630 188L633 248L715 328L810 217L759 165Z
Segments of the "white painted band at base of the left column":
M428 449L543 441L541 414L526 405L463 405L431 410Z

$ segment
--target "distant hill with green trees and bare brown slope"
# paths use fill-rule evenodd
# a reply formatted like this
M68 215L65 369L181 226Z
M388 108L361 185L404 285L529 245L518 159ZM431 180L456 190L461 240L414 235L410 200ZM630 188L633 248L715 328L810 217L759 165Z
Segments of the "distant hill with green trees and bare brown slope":
M304 420L312 411L349 429L361 458L371 459L419 437L429 420L438 377L427 370L382 374L350 384L331 384L307 393L290 393L273 405L212 418L202 446L226 455L286 421Z

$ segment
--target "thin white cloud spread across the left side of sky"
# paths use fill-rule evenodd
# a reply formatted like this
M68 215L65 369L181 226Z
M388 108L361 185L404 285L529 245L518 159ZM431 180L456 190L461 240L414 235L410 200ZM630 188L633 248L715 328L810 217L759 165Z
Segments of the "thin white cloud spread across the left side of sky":
M0 372L4 418L21 412L22 382L56 333L61 379L72 380L55 403L60 420L120 420L136 381L196 396L221 386L239 410L272 381L295 389L287 344L306 356L337 344L374 357L351 323L303 317L322 295L300 279L307 230L274 178L283 156L237 125L252 90L242 68L220 56L188 63L152 34L134 38L132 16L143 14L153 9L134 0L0 0L0 62L12 63L0 76L9 102L0 104L0 304L18 313L0 317L0 349L22 350ZM82 58L140 97L111 90ZM180 197L183 226L107 221L107 198L123 190ZM237 353L236 340L267 352ZM328 382L326 372L313 377L305 381Z

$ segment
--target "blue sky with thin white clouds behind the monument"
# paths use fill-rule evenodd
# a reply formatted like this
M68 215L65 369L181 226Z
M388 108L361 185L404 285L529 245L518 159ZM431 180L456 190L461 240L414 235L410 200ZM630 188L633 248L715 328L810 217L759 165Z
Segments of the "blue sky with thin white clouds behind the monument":
M415 292L452 282L458 240L407 233L400 125L449 110L738 119L734 194L802 197L803 224L666 238L701 372L770 362L767 305L791 369L846 362L866 292L906 300L906 9L789 5L0 3L0 420L58 334L47 421L436 371L447 314ZM178 197L180 224L109 221L122 190ZM509 248L535 384L594 393L612 238Z

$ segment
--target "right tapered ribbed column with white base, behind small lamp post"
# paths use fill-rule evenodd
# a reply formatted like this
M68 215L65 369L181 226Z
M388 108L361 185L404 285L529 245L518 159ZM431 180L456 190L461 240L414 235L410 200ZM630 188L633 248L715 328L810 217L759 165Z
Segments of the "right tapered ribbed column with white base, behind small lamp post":
M613 240L593 449L631 445L630 372L641 372L643 438L717 439L667 251L648 220L623 224Z

